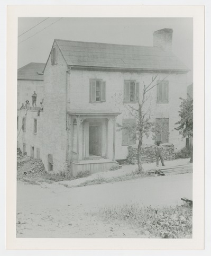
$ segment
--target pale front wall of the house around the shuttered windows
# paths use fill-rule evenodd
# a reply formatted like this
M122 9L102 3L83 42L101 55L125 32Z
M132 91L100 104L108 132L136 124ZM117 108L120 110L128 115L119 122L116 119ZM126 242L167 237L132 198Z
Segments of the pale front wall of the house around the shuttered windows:
M69 77L69 95L68 110L112 110L121 112L117 117L117 123L122 124L122 119L133 118L129 109L129 104L123 103L124 80L136 80L140 83L140 97L143 91L143 82L147 86L152 81L152 73L130 73L130 72L101 72L90 70L74 70L72 69ZM153 85L163 80L168 74L160 74ZM89 80L102 79L106 81L106 102L89 103ZM178 131L175 128L175 122L178 121L178 111L180 100L186 98L187 84L186 74L169 74L165 79L169 81L169 103L157 103L157 86L150 92L150 99L145 104L147 110L149 104L150 115L155 118L169 118L169 143L175 145L176 151L185 146ZM130 104L137 107L137 103ZM108 144L112 142L112 124L108 127ZM153 144L152 137L144 138L145 144ZM122 146L122 131L116 132L116 159L123 159L127 156L127 146Z

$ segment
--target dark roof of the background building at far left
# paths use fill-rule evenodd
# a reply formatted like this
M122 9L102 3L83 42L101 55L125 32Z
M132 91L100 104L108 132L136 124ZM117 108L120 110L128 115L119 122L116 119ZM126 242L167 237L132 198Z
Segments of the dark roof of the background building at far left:
M29 63L17 69L17 80L43 81L43 68L45 63Z

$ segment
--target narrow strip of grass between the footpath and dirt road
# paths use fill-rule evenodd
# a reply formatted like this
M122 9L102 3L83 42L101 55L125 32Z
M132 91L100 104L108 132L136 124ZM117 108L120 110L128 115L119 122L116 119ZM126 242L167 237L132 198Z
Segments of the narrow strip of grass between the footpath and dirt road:
M125 175L117 176L117 177L111 177L111 178L104 178L104 177L98 175L97 178L95 178L93 180L87 180L85 182L82 182L82 183L78 184L76 187L85 187L85 186L97 185L97 184L102 184L102 183L134 180L134 179L145 178L145 177L149 177L149 176L154 176L154 174L150 173L150 172L139 173L138 171L135 171L135 172L132 172L129 174L125 174Z

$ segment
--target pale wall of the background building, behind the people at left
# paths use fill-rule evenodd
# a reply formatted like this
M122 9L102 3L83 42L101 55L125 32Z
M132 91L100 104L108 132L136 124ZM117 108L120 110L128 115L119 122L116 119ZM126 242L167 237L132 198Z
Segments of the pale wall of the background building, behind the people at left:
M36 106L40 107L40 102L43 99L43 81L35 80L17 80L17 109L20 109L22 103L29 100L32 106L32 94L34 91L38 95L36 98Z

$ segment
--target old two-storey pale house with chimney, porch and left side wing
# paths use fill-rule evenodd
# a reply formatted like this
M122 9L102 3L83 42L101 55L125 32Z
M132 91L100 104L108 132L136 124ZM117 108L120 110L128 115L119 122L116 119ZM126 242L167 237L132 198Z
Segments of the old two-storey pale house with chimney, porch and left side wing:
M25 118L19 145L29 144L26 152L41 157L48 171L108 170L136 144L116 124L136 122L129 105L137 105L143 82L159 73L150 91L150 114L169 134L157 139L176 150L184 147L174 128L188 68L171 52L172 32L155 31L153 47L55 39L43 68L44 110L40 116L19 110ZM152 136L144 143L153 144Z

